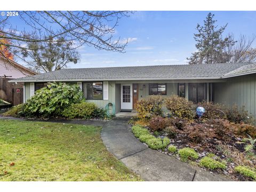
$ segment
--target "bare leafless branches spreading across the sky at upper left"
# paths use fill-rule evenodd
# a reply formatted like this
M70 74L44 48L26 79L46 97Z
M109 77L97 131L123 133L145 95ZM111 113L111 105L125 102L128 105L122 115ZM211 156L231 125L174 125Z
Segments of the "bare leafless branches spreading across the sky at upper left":
M43 42L46 47L47 42L65 39L73 43L69 49L87 45L121 53L127 44L120 42L120 38L114 39L113 34L119 19L131 14L128 11L19 11L18 14L20 26L25 27L14 28L11 18L0 17L0 39L11 41L7 46L10 52L24 62L27 60L21 51L33 50L28 43Z

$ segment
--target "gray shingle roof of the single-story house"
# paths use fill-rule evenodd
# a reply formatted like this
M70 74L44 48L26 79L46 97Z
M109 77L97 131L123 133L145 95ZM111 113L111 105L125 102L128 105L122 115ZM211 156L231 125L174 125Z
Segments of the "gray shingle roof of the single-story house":
M129 79L210 79L225 78L246 71L256 70L256 63L215 63L196 65L165 65L137 67L106 67L61 69L49 73L14 79L12 82L33 81L90 81L90 80L129 80Z

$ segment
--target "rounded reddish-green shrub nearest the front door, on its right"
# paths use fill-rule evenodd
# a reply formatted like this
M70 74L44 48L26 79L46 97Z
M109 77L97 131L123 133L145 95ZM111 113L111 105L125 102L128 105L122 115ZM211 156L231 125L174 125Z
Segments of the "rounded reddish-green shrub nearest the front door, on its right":
M153 115L162 115L163 97L151 95L141 99L135 105L139 118L150 118Z

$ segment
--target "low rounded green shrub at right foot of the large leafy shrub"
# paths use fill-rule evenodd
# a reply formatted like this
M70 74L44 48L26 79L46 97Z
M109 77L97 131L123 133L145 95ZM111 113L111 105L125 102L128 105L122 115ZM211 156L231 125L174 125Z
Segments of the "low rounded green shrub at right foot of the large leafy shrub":
M82 102L73 103L63 110L62 116L72 118L92 118L94 110L97 109L95 103Z

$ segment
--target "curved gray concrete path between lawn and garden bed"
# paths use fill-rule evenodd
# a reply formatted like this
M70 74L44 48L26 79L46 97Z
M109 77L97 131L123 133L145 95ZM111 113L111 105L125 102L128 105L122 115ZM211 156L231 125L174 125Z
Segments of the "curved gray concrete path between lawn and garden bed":
M101 138L110 153L146 181L230 181L220 175L196 170L187 163L148 148L136 139L124 118L102 127Z

